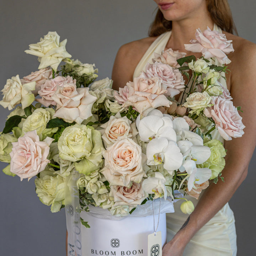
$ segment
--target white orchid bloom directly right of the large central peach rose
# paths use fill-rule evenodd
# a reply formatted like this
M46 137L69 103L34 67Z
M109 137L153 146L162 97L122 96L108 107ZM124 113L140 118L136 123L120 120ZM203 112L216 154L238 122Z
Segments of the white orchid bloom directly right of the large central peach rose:
M146 156L148 165L164 163L164 169L167 171L177 170L183 161L183 155L176 142L162 137L148 143Z

